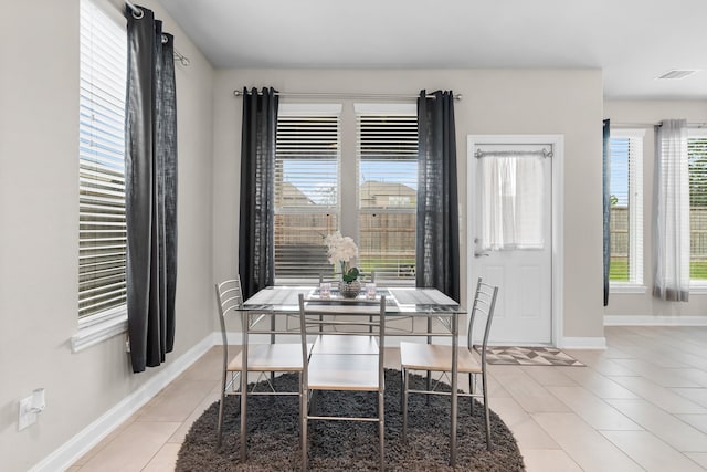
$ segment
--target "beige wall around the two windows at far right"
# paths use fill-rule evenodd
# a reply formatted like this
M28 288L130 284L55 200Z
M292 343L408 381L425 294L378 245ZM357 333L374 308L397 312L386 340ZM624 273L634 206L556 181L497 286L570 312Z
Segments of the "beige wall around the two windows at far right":
M644 323L651 317L700 316L707 317L707 295L690 294L689 302L663 302L652 296L653 255L653 176L655 136L651 124L662 119L685 118L688 123L707 123L707 101L606 101L604 117L610 118L612 128L631 124L644 124L643 141L643 255L645 293L613 293L605 314L609 316L643 316ZM647 319L645 317L648 317Z

